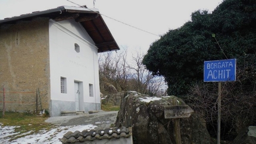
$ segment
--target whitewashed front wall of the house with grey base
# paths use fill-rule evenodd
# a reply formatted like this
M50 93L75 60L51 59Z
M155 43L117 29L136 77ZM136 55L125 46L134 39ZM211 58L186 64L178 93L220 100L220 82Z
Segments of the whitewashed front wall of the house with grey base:
M80 52L74 50L74 43ZM74 20L49 21L49 55L51 74L51 116L60 111L74 111L74 81L82 82L82 111L100 108L98 51L83 27ZM60 77L67 78L67 93L61 93ZM93 97L89 96L93 84Z

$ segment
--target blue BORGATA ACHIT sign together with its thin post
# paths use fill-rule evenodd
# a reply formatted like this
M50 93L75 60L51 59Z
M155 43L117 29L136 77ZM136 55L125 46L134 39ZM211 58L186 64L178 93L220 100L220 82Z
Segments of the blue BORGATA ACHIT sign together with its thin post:
M220 144L221 82L232 81L236 81L236 59L204 62L204 82L218 82L217 144Z

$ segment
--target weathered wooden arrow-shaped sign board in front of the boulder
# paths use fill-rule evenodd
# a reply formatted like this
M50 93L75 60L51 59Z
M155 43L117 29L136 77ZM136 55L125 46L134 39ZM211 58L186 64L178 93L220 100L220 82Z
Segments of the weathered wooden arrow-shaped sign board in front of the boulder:
M164 107L164 118L188 118L193 109L188 105L174 105Z

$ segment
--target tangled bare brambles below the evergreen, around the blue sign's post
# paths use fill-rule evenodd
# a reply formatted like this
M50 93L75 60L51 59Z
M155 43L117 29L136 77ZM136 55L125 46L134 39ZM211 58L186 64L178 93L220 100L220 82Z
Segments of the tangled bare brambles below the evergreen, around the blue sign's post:
M243 57L248 57L243 55ZM221 84L221 133L236 136L244 127L256 123L256 59L238 58L235 82ZM249 63L251 62L251 63ZM248 64L249 63L249 64ZM211 134L216 134L218 118L218 83L197 82L184 98L195 112L204 117ZM213 129L212 129L213 128Z

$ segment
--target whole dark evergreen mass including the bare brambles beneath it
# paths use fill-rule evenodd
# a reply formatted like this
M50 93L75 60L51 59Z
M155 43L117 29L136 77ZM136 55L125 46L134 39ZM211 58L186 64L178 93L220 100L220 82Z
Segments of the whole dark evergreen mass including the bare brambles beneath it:
M243 127L256 124L255 0L224 0L212 13L193 12L191 21L152 43L143 64L164 76L168 94L183 97L201 113L215 136L218 87L203 82L203 66L226 58L237 60L236 82L223 83L221 99L221 138L232 140Z

